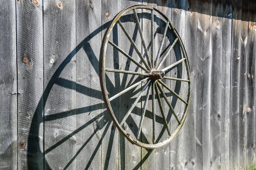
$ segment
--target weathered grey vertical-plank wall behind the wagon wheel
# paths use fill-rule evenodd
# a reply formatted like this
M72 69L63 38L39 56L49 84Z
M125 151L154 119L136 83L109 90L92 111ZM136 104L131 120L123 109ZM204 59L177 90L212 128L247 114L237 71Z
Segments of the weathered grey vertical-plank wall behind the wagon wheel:
M132 145L118 132L99 86L99 51L105 30L119 11L134 4L154 6L172 20L190 63L192 99L185 124L170 144L155 150ZM148 14L137 12L147 31L151 26L145 19ZM132 12L122 22L144 53ZM155 55L165 26L156 22ZM111 35L111 40L136 56L122 29L113 30L119 36ZM143 36L151 54L151 36ZM255 37L254 0L1 3L0 169L233 170L255 166ZM108 48L108 53L114 58L107 65L137 69L114 48ZM131 77L108 74L108 90L122 91L131 84ZM133 103L127 102L127 96L113 100L120 121ZM134 108L138 117L143 99ZM163 107L167 111L168 106ZM148 106L148 113L151 110ZM128 122L125 128L137 132L140 119L128 118ZM152 117L146 116L143 124L151 122ZM169 125L173 126L172 119ZM140 139L153 140L145 136L151 130L143 127ZM156 132L166 133L161 126ZM156 136L156 140L162 139Z

